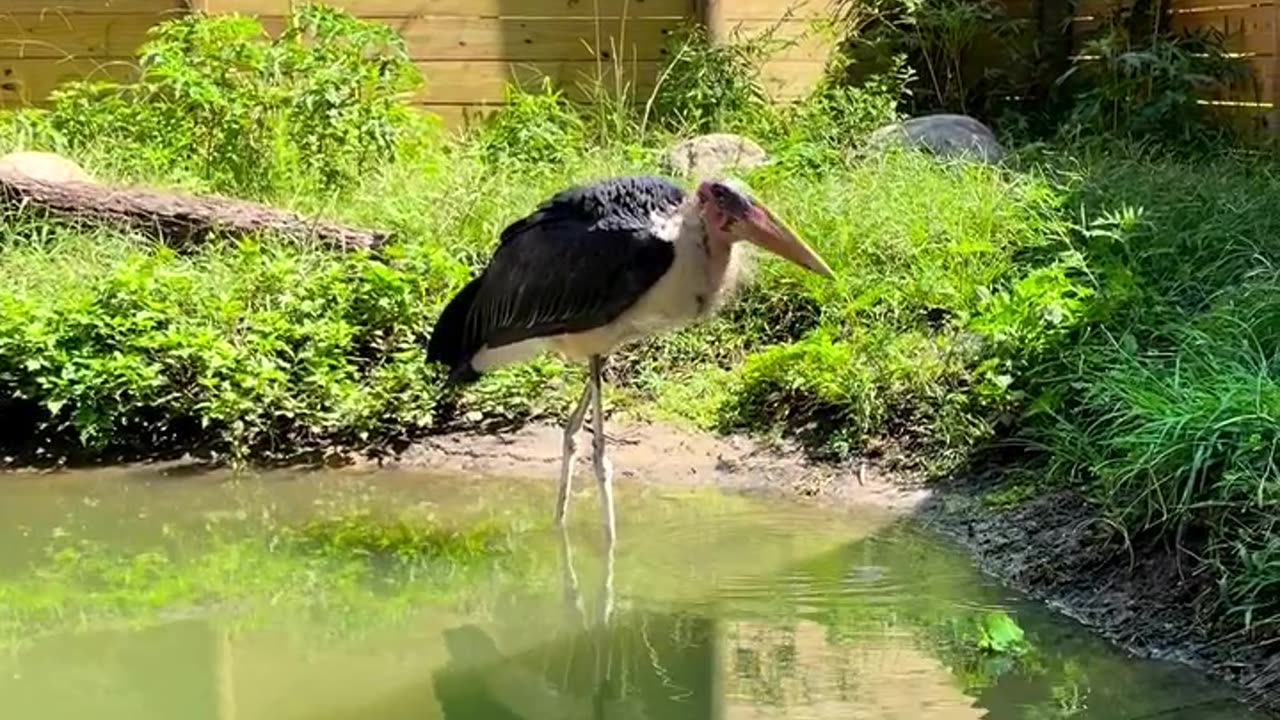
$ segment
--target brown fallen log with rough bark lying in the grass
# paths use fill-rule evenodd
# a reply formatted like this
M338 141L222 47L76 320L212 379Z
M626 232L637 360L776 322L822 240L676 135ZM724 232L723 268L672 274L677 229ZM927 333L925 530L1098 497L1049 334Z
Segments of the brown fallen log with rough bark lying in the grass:
M339 250L378 251L389 233L355 228L259 202L197 196L147 187L119 187L74 179L45 179L0 169L0 206L37 209L68 220L124 225L187 250L211 234L280 233Z

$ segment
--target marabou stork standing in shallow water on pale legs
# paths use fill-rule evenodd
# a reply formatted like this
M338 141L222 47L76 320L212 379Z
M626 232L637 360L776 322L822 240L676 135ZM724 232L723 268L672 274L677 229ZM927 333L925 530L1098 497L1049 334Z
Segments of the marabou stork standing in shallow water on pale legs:
M440 314L428 360L449 369L449 384L545 350L589 365L564 425L554 514L562 529L573 438L590 402L593 468L611 547L616 537L600 400L604 357L722 306L740 278L742 240L832 277L818 254L733 181L708 179L687 193L660 177L612 177L563 190L509 224L489 265Z

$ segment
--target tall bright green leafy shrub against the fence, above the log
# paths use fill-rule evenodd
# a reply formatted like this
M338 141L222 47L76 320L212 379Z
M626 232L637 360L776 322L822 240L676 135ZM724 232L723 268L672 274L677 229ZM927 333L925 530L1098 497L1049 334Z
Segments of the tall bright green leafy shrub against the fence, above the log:
M270 195L348 187L416 127L403 100L421 77L401 37L324 5L298 5L276 37L250 17L186 15L152 28L138 61L136 83L55 91L51 128L73 149L122 143L143 172Z

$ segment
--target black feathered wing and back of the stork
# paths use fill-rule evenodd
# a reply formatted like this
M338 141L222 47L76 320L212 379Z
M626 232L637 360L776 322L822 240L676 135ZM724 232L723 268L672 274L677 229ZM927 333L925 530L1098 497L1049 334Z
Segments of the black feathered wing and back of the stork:
M471 356L532 337L584 332L617 319L662 277L675 246L653 234L684 191L630 176L561 191L502 231L489 266L440 315L428 359L456 380L474 379Z

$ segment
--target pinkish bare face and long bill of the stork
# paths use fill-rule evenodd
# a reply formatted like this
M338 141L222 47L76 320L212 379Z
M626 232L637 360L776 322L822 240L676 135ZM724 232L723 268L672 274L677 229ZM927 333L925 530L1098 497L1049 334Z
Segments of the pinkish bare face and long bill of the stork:
M730 247L745 240L806 270L833 277L827 263L759 202L714 181L698 186L698 201L712 241Z

